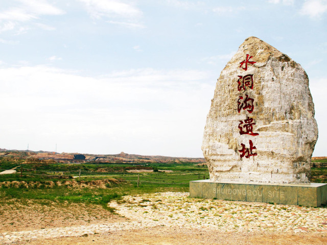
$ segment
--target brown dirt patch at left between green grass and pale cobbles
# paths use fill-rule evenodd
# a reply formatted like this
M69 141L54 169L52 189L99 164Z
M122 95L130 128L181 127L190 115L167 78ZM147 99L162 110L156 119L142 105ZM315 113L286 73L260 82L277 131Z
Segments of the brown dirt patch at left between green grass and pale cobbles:
M38 204L36 201L20 204L19 201L12 200L10 204L1 204L0 220L2 233L122 222L126 219L113 215L99 205L62 204L50 201L46 205Z

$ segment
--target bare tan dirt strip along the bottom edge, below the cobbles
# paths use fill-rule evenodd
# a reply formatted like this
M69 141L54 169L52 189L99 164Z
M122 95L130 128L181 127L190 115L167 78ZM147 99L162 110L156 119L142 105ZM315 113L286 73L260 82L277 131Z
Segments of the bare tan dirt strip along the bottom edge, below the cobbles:
M109 244L139 244L139 245L180 245L180 244L219 244L219 245L313 245L327 244L325 235L287 234L287 233L218 233L180 228L154 227L143 230L119 231L105 234L88 235L84 237L61 237L55 239L39 239L20 242L24 245L109 245Z

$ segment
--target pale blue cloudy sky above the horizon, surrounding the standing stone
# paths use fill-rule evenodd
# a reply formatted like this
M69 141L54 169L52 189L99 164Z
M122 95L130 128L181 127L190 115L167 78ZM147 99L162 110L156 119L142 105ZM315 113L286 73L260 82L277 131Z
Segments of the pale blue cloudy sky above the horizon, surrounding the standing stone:
M216 81L258 37L301 64L326 156L327 1L3 0L0 148L202 157Z

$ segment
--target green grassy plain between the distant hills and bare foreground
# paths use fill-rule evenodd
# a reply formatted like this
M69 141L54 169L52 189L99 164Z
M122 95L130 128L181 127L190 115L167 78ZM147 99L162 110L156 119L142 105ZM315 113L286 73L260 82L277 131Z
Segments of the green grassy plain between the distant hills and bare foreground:
M0 169L23 166L22 177L19 173L20 167L17 168L16 174L0 175L0 182L7 182L7 185L0 187L0 205L3 202L19 200L20 203L24 203L26 200L34 200L45 205L49 205L49 202L68 202L102 205L107 208L110 200L119 199L126 194L189 191L190 181L209 178L207 166L190 162L153 163L137 166L171 170L170 173L159 171L128 173L127 170L131 164L21 163L22 161L0 159ZM79 169L81 169L81 176L85 177L74 179L73 176L79 175ZM312 168L311 181L327 183L327 168ZM68 182L69 184L67 184ZM102 183L102 187L95 187L98 183ZM84 187L81 187L81 184ZM88 184L92 185L88 186Z

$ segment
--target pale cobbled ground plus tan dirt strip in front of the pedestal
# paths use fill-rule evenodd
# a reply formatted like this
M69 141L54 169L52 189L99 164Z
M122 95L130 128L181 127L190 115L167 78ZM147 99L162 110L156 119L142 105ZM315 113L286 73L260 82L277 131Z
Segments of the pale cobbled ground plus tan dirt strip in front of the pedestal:
M120 218L44 229L21 224L0 233L0 244L327 244L326 208L188 196L126 196L109 204Z

